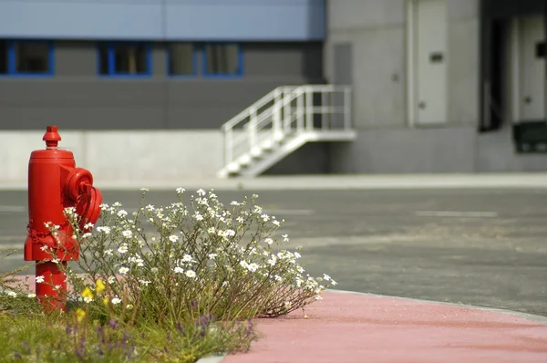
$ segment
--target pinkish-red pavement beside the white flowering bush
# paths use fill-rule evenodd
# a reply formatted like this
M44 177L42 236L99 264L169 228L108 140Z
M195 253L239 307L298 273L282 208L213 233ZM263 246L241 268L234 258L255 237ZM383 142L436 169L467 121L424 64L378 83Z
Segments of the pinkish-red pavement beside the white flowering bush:
M326 292L222 363L544 363L547 318L472 306Z

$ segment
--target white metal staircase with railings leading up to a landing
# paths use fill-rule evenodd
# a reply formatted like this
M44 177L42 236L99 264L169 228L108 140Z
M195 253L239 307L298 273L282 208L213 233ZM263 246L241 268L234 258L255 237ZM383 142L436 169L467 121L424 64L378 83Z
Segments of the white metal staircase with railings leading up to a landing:
M224 166L217 176L257 176L310 141L349 141L351 88L278 87L222 125Z

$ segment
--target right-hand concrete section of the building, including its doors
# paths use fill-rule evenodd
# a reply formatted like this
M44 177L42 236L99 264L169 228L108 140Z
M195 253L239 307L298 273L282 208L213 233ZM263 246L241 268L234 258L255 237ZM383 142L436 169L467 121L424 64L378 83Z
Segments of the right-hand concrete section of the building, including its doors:
M545 2L341 0L325 78L354 88L331 171L547 171Z

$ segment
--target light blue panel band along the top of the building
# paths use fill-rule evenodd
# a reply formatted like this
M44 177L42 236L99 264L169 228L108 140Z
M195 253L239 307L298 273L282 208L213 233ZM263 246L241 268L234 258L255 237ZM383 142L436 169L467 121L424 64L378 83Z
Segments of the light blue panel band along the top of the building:
M0 37L322 40L325 0L0 0Z

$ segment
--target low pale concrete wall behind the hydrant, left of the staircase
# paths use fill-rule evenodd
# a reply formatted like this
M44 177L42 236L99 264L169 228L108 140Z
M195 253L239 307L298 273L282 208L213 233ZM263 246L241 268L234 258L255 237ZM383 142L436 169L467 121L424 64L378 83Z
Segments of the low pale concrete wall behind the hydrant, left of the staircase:
M210 178L222 167L218 130L67 131L59 147L74 153L77 166L96 181L177 181ZM0 133L0 184L24 183L32 150L44 149L44 131ZM143 185L144 186L144 185Z

